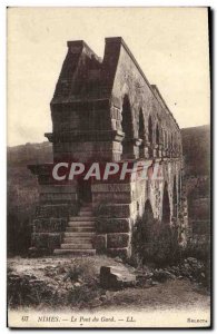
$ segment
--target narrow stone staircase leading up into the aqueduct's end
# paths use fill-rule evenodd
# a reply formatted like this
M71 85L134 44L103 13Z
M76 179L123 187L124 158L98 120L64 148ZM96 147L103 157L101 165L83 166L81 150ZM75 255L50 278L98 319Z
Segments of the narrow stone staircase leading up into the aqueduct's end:
M92 239L96 235L92 207L87 204L81 207L79 215L70 217L60 249L56 255L95 255Z

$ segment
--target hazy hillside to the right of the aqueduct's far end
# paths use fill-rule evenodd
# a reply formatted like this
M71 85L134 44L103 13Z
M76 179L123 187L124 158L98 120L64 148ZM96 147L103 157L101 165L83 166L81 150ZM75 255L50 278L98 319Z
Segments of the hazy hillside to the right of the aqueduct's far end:
M210 243L210 127L187 128L181 132L191 240L198 249L208 249Z

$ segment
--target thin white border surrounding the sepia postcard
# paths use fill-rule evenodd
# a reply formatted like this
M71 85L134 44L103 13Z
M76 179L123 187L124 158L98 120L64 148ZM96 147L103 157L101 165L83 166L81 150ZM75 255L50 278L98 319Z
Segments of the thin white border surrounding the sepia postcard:
M6 57L6 45L7 45L7 29L6 29L6 11L7 7L211 7L215 16L215 10L217 8L215 0L164 0L164 1L157 1L157 0L147 0L146 2L142 0L134 0L134 1L124 1L119 0L114 1L100 1L100 0L77 0L77 1L70 1L70 0L2 0L0 2L0 88L1 88L1 97L0 97L0 166L1 166L1 177L0 177L0 213L1 213L1 232L0 232L0 286L1 286L1 293L0 293L0 330L1 333L7 333L9 330L6 327L6 316L7 316L7 310L6 310L6 146L7 146L7 111L6 111L6 96L7 96L7 85L6 85L6 63L7 63L7 57ZM213 22L214 26L214 22ZM215 37L216 29L213 27L213 36ZM214 43L216 43L216 39L214 40ZM214 55L216 53L216 46L213 45L213 61L214 61ZM213 63L213 70L214 70L214 63ZM213 72L213 77L215 77L215 72ZM213 87L214 89L214 87ZM216 87L213 91L214 96L216 96ZM214 99L214 98L213 98ZM213 106L213 121L214 126L216 126L215 120L215 110ZM215 127L216 129L216 127ZM216 153L216 140L214 143L215 153ZM215 155L216 157L216 155ZM216 163L216 158L215 161ZM216 164L215 164L216 165ZM215 188L217 185L217 180L215 180ZM217 207L217 199L215 198L215 203L213 204L214 208ZM215 219L214 219L215 220ZM214 222L215 223L215 222ZM215 229L216 232L216 229ZM215 233L215 239L216 233ZM214 243L215 246L215 243ZM215 261L216 264L216 261ZM216 267L216 266L215 266ZM214 308L214 320L217 318L217 311L216 307ZM29 331L26 331L30 332ZM42 333L47 333L47 331L41 331ZM63 331L60 330L60 332L63 333ZM73 331L77 332L77 331ZM131 331L132 332L132 331ZM203 331L205 332L205 331ZM200 331L201 333L201 331Z

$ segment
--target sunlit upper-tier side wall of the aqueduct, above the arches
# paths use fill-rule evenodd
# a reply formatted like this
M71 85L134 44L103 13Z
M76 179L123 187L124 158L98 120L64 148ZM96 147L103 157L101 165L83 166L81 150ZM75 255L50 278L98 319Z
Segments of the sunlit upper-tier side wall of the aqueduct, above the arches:
M109 40L112 50L118 49L118 40ZM151 86L137 66L131 52L125 45L120 48L119 61L114 81L111 96L111 117L114 129L121 130L121 120L115 115L121 115L124 97L127 96L132 114L134 138L139 138L139 112L144 115L145 140L151 147L154 155L156 149L162 149L167 157L181 156L181 135L172 115L168 110L156 86ZM114 112L116 110L116 112ZM152 121L152 143L149 143L148 119ZM156 143L156 127L159 128L159 144ZM138 147L135 158L139 157Z

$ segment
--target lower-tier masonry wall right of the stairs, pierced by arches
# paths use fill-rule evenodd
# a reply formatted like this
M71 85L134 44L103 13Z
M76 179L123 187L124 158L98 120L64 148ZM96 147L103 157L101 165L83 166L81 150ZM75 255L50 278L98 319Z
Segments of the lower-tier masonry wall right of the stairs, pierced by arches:
M157 165L157 164L156 164ZM157 167L157 166L156 166ZM131 232L138 217L145 212L147 200L151 203L154 218L162 220L164 188L168 184L170 216L167 224L178 225L178 235L186 243L187 219L184 218L181 188L179 184L180 161L171 161L162 167L162 180L137 180L125 183L97 183L92 185L92 205L97 218L96 248L114 256L129 257L131 254ZM175 183L175 184L174 184ZM174 188L177 202L174 203ZM161 222L164 225L165 222Z

